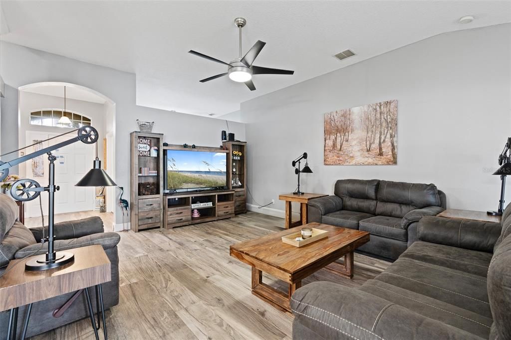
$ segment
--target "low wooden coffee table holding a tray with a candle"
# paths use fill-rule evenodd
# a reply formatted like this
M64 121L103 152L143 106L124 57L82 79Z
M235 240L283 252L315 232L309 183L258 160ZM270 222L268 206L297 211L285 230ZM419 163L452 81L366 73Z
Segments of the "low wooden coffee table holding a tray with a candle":
M327 230L328 237L300 248L282 242L282 236L300 231L304 227L300 226L230 246L230 256L252 266L252 294L285 311L291 310L289 300L301 280L329 264L329 271L352 278L353 251L369 241L365 231L319 223L306 226ZM342 256L344 265L333 263ZM288 293L263 283L262 272L286 281Z

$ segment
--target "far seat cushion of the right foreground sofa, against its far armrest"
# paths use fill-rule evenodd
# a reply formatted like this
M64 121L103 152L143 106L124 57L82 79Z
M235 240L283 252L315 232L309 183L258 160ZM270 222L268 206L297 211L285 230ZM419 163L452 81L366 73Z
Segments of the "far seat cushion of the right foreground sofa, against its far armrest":
M401 254L423 262L455 269L464 273L486 277L492 254L463 248L436 245L424 241L415 241Z

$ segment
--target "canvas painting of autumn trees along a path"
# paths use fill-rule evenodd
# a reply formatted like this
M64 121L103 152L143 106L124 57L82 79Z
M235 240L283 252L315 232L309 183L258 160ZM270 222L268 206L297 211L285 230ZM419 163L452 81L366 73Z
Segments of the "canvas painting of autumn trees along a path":
M324 164L398 164L398 101L325 113Z

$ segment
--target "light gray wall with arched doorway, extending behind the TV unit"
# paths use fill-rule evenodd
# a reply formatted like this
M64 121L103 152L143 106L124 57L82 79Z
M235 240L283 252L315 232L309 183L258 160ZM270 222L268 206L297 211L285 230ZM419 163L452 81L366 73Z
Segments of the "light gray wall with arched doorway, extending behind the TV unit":
M220 131L225 122L220 119L174 113L135 104L135 75L62 56L33 50L5 41L0 42L0 74L13 93L8 92L2 103L2 151L4 129L17 131L17 102L20 86L38 82L67 82L100 92L115 103L115 176L113 180L129 192L129 133L137 129L136 119L155 122L153 132L165 133L169 143L189 143L206 146L220 145ZM197 99L200 100L200 99ZM5 105L4 105L5 104ZM4 110L5 109L5 110ZM12 122L12 117L15 122ZM5 119L4 119L5 118ZM244 125L230 123L231 132L245 139ZM15 136L17 146L17 135ZM126 196L125 196L126 198ZM115 220L122 223L117 207Z

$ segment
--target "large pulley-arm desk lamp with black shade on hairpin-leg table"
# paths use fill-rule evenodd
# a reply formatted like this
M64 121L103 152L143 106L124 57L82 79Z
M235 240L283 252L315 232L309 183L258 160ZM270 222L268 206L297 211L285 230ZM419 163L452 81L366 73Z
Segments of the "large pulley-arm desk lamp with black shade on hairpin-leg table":
M72 132L78 131L78 136L65 140L63 142L57 143L55 145L51 145L50 147L38 150L31 154L21 156L19 158L13 159L7 163L0 161L0 181L4 180L9 175L9 168L18 165L20 163L26 162L33 158L39 157L41 155L47 154L48 160L50 161L50 173L49 173L49 184L47 187L42 188L39 183L32 179L21 179L12 184L11 187L11 195L17 201L32 201L36 199L42 191L48 191L49 193L49 211L48 211L48 252L44 255L40 255L35 257L34 259L28 261L25 264L26 271L44 271L52 268L57 268L67 263L71 263L75 259L75 255L72 252L56 252L53 248L54 242L54 214L55 214L55 191L60 190L58 185L55 185L55 160L57 157L52 154L52 151L65 147L66 145L72 144L77 141L81 141L85 144L93 144L98 141L98 131L91 126L83 126L79 129L69 131L63 133L59 136L55 136L52 138L48 138L46 140L42 140L38 143L42 143ZM5 156L8 154L12 154L18 152L20 150L27 149L32 147L35 144L28 145L27 147L11 151L7 154L1 155ZM78 182L79 186L110 186L115 185L115 183L111 180L110 177L101 169L101 162L97 157L98 148L96 144L96 160L94 161L94 168L89 171L85 177ZM101 173L101 174L100 174Z

